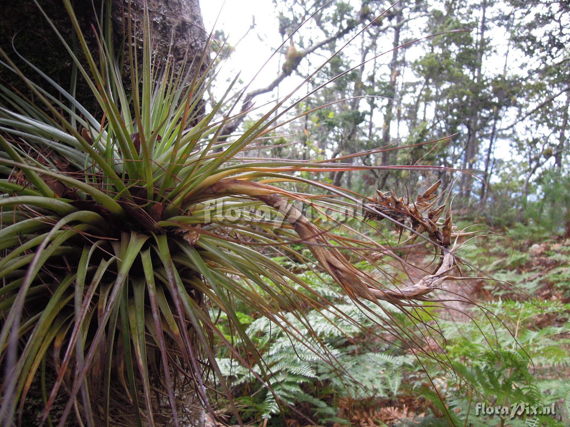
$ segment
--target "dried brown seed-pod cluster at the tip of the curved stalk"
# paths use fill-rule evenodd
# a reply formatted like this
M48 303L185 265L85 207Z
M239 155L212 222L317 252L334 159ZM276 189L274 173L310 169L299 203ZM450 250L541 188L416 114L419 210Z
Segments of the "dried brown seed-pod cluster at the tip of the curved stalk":
M364 219L378 221L385 218L392 219L400 236L405 228L412 229L410 240L413 242L419 235L427 232L430 240L438 247L449 248L453 228L451 211L447 211L445 221L438 222L446 204L434 207L439 199L434 193L440 184L441 179L427 188L424 193L418 194L416 201L411 203L404 200L403 196L398 198L394 190L385 193L376 190L372 202L366 205L369 211L365 213Z

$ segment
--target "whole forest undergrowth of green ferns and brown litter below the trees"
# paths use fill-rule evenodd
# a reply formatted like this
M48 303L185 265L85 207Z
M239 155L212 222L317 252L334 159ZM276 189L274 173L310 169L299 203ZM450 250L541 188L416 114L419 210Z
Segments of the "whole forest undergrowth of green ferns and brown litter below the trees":
M434 334L425 336L424 350L444 355L454 371L416 358L397 340L387 346L374 334L350 325L343 325L341 333L314 315L312 327L345 368L335 371L292 346L278 331L267 333L266 319L257 319L242 307L248 333L269 354L272 385L291 405L280 413L274 396L247 369L221 358L243 418L261 426L447 426L443 416L447 410L453 423L461 426L569 425L570 240L529 225L496 234L484 231L488 227L475 227L482 234L462 245L458 256L465 262L463 273L470 270L471 276L481 279L447 281L443 289L453 301L447 301L444 309L417 311L429 317L434 328ZM410 264L433 268L433 255L412 256ZM398 274L394 260L390 263L393 270L388 266L386 273ZM416 270L408 270L408 280L425 276L424 269ZM314 276L299 274L305 279ZM313 284L325 291L316 277ZM327 291L337 310L348 310L374 331L365 314L342 305L338 295ZM389 305L386 308L390 310ZM390 314L406 322L396 310ZM482 404L508 407L509 413L481 413ZM546 406L554 408L554 414L526 409Z

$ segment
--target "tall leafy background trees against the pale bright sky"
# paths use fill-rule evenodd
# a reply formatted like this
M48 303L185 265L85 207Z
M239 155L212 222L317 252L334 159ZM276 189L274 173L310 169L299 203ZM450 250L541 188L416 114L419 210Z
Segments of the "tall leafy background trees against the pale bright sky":
M282 153L300 159L332 155L373 166L422 159L469 170L473 175L460 175L454 187L461 204L481 207L493 224L522 220L520 210L500 215L500 203L488 203L498 201L491 193L504 176L499 167L512 164L524 176L522 191L512 195L514 206L524 209L528 194L540 191L532 183L541 173L556 166L564 174L568 152L568 52L563 47L568 10L558 2L540 7L539 2L494 0L279 3L276 22L284 41L277 52L279 75L265 88L247 89L243 97L249 102L241 111L262 94L275 95L287 76L307 78L313 55L331 56L352 40L302 89L311 93L333 79L302 109L347 101L307 116L302 128L291 128L300 142ZM447 34L433 36L440 33ZM291 34L293 62L287 59ZM429 38L415 42L422 37ZM401 146L410 147L393 150ZM353 156L366 150L377 152ZM346 171L327 179L355 190L363 184L385 190L406 174ZM446 185L454 179L445 169L434 169L414 172L408 185L430 176Z

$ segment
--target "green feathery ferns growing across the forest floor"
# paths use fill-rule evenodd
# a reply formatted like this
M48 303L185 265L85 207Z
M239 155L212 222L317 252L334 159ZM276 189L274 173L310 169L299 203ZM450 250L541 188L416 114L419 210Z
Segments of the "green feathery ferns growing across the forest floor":
M559 372L570 368L570 304L512 298L520 298L522 292L536 295L548 286L560 295L568 295L570 246L536 245L534 255L519 252L518 248L513 252L509 240L503 237L495 237L492 244L482 241L466 245L460 253L466 262L474 262L487 274L514 286L485 282L482 289L495 302L484 304L482 309L464 307L468 321L462 320L463 314L458 314L461 319L453 315L441 318L433 309L422 314L425 318L439 317L433 326L442 342L433 343L432 351L434 355L445 355L447 363L434 363L428 355L415 358L397 346L386 347L375 342L373 336L363 336L356 323L344 320L343 313L374 331L374 322L366 311L343 304L335 288L319 284L314 273L302 273L304 280L331 301L331 315L323 317L308 310L303 321L290 315L286 316L287 322L308 342L310 325L324 343L327 359L337 360L338 364L324 362L324 354L315 354L302 345L302 340L293 344L282 329L271 329L267 319L244 317L247 334L263 349L275 391L272 395L243 363L221 352L219 366L230 379L245 418L260 421L271 417L272 422L278 422L280 410L292 418L299 417L295 410L300 410L311 414L319 424L351 424L339 417L344 413L339 405L346 405L347 398L353 403L368 402L367 407L381 410L378 403L399 397L412 399L419 408L420 402L425 402L426 411L414 418L414 422L425 426L443 427L450 422L489 427L501 422L508 426L567 425L570 383ZM541 264L544 262L547 264ZM543 269L544 274L540 273ZM390 305L385 308L405 327L413 327ZM433 381L439 395L429 381ZM537 407L554 403L556 414L501 418L475 413L478 403L489 407L521 402ZM449 419L443 416L446 410ZM400 410L400 416L402 413Z

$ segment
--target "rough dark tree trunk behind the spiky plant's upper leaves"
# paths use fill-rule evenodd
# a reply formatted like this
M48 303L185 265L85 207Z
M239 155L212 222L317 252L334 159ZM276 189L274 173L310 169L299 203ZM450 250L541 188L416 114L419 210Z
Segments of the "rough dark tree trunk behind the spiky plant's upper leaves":
M102 1L104 0L93 0L93 3L91 0L76 0L74 2L75 14L92 52L98 51L93 28L97 28L97 14L100 13ZM124 26L123 17L127 13L129 0L111 1L114 42L115 46L119 47L124 40L126 26ZM143 4L143 0L131 0L131 10L136 18L140 19L142 16ZM153 55L164 60L170 52L174 63L180 66L186 52L188 52L188 63L194 61L193 72L196 72L197 64L207 42L207 33L203 29L198 0L148 0L146 4L153 26ZM63 2L61 0L39 0L39 5L52 20L55 27L58 28L66 42L72 46L73 29ZM26 76L30 76L36 83L46 87L44 81L30 67L27 67L22 60L18 60L14 49L52 77L64 89L69 90L71 87L72 61L58 36L34 2L3 0L0 10L0 48L15 61ZM141 29L142 27L139 20L137 28ZM136 37L139 39L137 45L141 47L143 43L140 34L140 31L137 31ZM83 55L80 54L79 58L83 60ZM205 70L208 63L209 55L206 55L205 63L202 64L200 72ZM85 66L88 68L86 62ZM5 85L14 85L23 93L28 93L26 85L19 80L18 76L4 67L0 67L0 82ZM126 88L130 86L128 74L125 75L124 84ZM49 88L46 87L46 89ZM96 111L99 108L91 89L82 79L78 79L75 97L88 109Z

